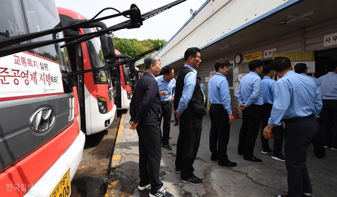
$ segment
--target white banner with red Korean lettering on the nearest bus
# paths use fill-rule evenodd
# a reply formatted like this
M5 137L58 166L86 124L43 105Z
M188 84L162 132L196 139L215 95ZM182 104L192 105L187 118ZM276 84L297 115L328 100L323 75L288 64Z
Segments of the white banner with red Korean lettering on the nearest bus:
M0 100L63 93L59 64L29 52L0 58Z

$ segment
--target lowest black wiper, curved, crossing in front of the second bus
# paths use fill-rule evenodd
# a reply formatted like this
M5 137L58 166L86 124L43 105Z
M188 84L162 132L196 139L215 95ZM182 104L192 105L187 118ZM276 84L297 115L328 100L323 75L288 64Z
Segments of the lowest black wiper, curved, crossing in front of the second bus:
M93 69L88 69L88 70L80 70L80 71L74 71L74 72L70 72L68 73L67 75L69 77L72 77L72 76L76 76L76 75L81 75L81 74L84 74L84 73L87 73L87 72L93 72L93 71L98 71L98 70L109 70L109 69L112 69L113 67L116 67L116 66L119 66L119 65L123 65L123 64L127 64L127 63L131 63L131 62L135 62L137 59L141 58L142 56L150 53L150 52L153 52L155 50L158 50L162 47L162 45L156 47L156 48L153 48L153 49L150 49L150 50L147 50L145 52L142 52L136 56L133 56L131 58L128 58L128 59L124 59L120 62L116 62L116 63L113 63L113 64L109 64L107 66L102 66L100 68L93 68Z

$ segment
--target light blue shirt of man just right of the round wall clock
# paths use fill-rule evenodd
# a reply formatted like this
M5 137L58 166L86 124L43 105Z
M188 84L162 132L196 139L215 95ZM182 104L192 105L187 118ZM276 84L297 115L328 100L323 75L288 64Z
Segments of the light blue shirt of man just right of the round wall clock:
M261 81L261 77L252 71L241 79L237 90L237 100L240 104L244 103L246 107L263 104Z

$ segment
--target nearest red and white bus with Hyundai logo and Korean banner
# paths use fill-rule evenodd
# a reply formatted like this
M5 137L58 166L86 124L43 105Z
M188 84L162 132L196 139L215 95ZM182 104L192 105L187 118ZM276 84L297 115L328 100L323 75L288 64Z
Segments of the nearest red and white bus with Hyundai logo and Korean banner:
M4 42L58 26L51 0L0 0ZM20 41L24 46L63 38L62 33ZM19 39L19 38L18 38ZM62 44L62 43L60 43ZM69 197L82 160L77 87L59 44L0 53L0 196Z

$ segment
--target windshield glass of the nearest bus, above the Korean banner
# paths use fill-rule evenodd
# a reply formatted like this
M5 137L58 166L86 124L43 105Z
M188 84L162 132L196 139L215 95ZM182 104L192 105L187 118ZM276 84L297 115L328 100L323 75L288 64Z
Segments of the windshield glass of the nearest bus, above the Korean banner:
M4 37L13 37L55 28L60 25L55 1L46 0L0 0L0 32ZM52 5L51 5L52 4ZM47 41L63 38L63 33L54 33L33 39L29 42ZM64 43L60 43L63 45ZM59 44L48 45L29 52L54 60L59 64L63 74L70 72L66 49ZM36 63L21 57L17 63L23 66L37 67L39 70L49 71L47 63Z

